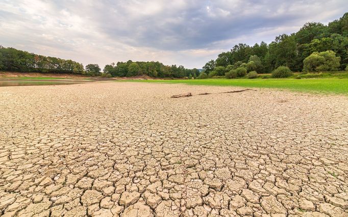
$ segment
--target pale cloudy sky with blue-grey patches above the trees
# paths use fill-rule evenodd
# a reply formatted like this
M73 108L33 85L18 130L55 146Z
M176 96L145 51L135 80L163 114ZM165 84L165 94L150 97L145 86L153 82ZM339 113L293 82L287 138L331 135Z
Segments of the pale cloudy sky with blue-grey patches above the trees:
M271 42L328 23L346 0L0 0L0 45L105 64L160 61L202 68L237 43Z

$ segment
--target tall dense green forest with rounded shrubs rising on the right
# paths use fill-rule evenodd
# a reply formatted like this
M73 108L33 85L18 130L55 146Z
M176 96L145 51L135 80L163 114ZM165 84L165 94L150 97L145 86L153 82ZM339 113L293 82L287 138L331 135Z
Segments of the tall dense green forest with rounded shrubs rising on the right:
M348 68L348 13L324 25L306 23L298 32L277 36L270 44L235 45L205 64L206 75L225 75L245 68L269 73L283 66L291 71L336 71ZM233 72L233 71L231 71Z

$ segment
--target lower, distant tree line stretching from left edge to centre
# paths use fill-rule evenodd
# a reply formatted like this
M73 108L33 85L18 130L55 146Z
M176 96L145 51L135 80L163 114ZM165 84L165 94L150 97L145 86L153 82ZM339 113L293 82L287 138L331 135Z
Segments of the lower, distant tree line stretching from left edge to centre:
M147 75L162 78L196 77L200 74L200 71L197 69L186 69L183 66L166 66L160 62L133 62L131 60L106 65L102 72L98 64L88 64L84 67L81 63L72 60L45 57L3 46L0 46L0 71L76 73L106 77Z

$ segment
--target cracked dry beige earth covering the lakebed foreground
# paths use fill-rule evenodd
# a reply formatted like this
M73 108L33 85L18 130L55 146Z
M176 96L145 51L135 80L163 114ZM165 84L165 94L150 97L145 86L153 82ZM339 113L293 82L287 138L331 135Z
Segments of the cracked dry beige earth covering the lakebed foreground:
M3 216L348 216L348 97L0 88Z

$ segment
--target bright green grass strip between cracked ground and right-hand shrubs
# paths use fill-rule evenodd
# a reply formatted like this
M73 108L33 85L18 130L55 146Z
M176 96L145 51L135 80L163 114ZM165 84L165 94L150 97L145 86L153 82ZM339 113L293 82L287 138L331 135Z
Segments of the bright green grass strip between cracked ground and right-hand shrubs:
M127 81L127 80L125 80ZM128 80L130 81L130 80ZM268 78L268 79L178 79L178 80L132 80L132 82L210 85L210 86L237 86L254 88L277 88L301 92L335 93L348 95L347 78Z

